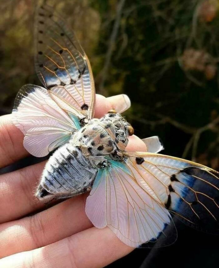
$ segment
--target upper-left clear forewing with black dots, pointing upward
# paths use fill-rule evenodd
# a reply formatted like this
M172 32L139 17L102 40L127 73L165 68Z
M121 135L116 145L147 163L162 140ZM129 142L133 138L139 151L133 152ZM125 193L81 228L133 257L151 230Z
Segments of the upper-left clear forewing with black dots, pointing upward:
M76 108L93 118L95 88L87 55L51 7L43 5L37 12L35 68L39 79L61 108L71 112Z

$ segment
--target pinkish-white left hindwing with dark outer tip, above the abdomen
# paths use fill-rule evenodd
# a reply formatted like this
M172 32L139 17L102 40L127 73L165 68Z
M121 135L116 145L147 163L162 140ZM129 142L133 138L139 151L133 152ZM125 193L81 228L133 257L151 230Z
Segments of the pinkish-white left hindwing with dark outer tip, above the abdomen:
M25 135L24 147L37 157L48 155L68 141L80 128L78 118L83 117L76 111L74 114L64 112L45 88L34 85L20 89L13 115L13 123Z

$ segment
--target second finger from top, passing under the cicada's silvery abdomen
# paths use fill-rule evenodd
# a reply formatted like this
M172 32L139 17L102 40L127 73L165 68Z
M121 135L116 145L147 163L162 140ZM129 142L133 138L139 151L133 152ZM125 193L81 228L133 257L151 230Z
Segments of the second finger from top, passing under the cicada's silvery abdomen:
M146 145L130 137L130 150L144 151ZM45 162L0 175L0 223L15 220L43 207L34 197Z

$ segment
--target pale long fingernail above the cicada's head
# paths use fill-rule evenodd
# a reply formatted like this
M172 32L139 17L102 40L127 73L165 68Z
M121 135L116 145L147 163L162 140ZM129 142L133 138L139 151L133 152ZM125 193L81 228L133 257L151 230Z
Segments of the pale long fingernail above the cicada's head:
M125 94L108 97L107 99L111 103L112 109L114 109L117 113L123 113L131 106L131 101Z

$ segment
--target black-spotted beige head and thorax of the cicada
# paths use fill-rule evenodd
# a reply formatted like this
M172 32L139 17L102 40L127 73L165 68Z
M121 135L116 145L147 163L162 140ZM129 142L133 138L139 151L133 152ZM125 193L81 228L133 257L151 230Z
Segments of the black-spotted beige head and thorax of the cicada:
M109 113L100 119L90 120L70 142L79 146L87 157L114 154L125 150L129 125L119 113Z

